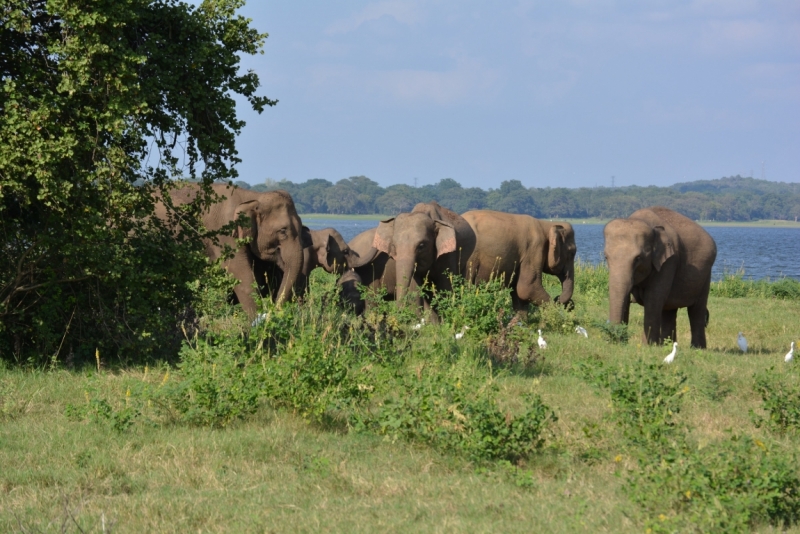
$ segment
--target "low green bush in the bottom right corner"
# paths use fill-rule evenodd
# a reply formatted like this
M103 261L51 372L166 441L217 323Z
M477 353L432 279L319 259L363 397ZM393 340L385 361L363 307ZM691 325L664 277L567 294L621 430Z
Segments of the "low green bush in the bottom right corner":
M800 519L795 459L746 436L702 448L679 443L643 458L626 490L649 532L750 532Z

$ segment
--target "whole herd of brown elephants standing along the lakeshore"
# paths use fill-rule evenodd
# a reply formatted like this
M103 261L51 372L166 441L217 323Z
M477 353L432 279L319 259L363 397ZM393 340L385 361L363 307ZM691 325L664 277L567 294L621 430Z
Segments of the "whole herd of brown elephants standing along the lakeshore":
M239 221L231 235L206 241L211 260L232 247L223 265L239 284L235 299L248 315L257 315L253 288L281 303L301 297L313 269L339 276L343 300L364 310L360 286L384 289L387 298L407 303L416 299L433 319L430 298L421 291L427 280L436 290L451 290L450 274L470 283L502 277L511 289L514 309L524 314L529 304L550 300L544 273L561 282L556 302L572 305L575 284L575 233L567 222L549 222L528 215L490 210L461 215L436 202L417 204L410 213L381 221L349 243L333 228L303 226L285 191L259 193L215 184L222 200L204 208L208 230ZM173 204L191 201L197 186L171 193ZM166 218L163 203L156 215ZM242 216L243 215L243 216ZM242 221L249 220L249 224ZM676 339L678 308L687 308L692 346L705 348L711 267L716 258L713 238L694 221L662 207L638 210L615 219L604 229L609 268L609 320L628 321L630 302L644 306L644 339L661 343ZM242 238L247 244L239 245Z

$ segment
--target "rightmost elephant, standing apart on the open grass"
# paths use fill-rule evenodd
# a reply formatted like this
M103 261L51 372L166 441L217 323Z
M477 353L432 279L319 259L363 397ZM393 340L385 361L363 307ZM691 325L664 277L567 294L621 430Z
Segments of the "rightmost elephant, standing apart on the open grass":
M692 346L706 347L708 290L717 244L699 224L651 207L603 229L608 262L608 318L627 323L631 297L644 306L644 340L677 338L678 308L687 308Z

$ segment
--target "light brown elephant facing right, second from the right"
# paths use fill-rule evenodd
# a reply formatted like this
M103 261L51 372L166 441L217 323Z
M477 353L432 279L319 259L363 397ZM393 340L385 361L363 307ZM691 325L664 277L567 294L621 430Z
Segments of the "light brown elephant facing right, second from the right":
M571 304L576 251L571 224L491 210L468 211L462 217L478 238L468 260L469 280L485 282L502 275L511 286L514 309L524 313L530 303L550 301L542 285L542 274L547 273L561 282L556 300Z

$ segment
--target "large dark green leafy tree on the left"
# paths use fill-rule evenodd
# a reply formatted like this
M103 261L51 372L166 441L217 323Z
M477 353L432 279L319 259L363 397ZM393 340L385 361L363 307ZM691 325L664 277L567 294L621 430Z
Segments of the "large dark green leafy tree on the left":
M242 4L0 0L0 356L171 347L202 234L152 194L235 179L232 94L275 104L239 72L266 38Z

